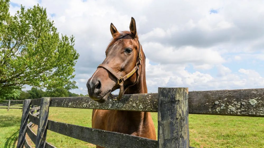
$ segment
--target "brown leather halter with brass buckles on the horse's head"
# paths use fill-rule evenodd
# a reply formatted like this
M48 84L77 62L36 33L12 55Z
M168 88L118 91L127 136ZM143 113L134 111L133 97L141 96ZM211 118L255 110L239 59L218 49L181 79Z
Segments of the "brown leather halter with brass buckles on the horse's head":
M115 98L111 93L110 96L112 97L113 100L120 100L122 98L122 96L124 95L125 91L128 89L128 87L135 85L138 82L139 79L139 65L141 65L141 60L142 60L142 54L141 54L141 45L138 41L138 45L139 45L139 49L138 49L138 56L137 56L137 62L136 62L136 66L125 76L120 76L118 75L111 67L107 66L106 64L100 64L97 68L102 67L105 68L108 72L110 72L116 79L117 79L117 83L119 84L120 87L120 91L119 91L119 95L117 98ZM132 84L126 87L125 91L124 91L124 81L127 80L128 78L130 78L135 72L137 72L137 78L136 81Z

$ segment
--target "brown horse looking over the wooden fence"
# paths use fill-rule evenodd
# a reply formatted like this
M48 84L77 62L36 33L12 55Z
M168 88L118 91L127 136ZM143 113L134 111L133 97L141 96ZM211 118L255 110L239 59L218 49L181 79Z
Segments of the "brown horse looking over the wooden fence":
M111 92L120 88L123 94L148 93L145 74L145 54L132 17L130 31L118 32L111 23L112 41L106 48L106 58L87 81L89 97L105 102ZM149 112L98 110L92 114L92 128L130 134L156 140L156 132ZM97 146L97 148L101 148Z

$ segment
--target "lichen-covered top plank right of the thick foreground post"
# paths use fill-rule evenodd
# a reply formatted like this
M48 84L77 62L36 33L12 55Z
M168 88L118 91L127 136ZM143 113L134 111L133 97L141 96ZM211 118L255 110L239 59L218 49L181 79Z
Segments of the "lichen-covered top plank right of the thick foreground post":
M264 89L189 92L189 114L264 117Z

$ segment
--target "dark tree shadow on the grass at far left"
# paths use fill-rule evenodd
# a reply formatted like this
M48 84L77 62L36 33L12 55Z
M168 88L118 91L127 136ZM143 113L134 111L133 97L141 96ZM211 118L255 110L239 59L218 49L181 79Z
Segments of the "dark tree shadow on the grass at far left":
M0 127L20 125L21 117L0 115Z

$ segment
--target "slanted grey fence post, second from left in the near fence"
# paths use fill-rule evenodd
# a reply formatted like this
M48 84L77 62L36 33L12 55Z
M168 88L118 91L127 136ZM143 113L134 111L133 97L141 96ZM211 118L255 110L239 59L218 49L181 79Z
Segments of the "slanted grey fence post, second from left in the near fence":
M46 144L50 97L41 98L39 124L37 127L36 148L44 148Z

